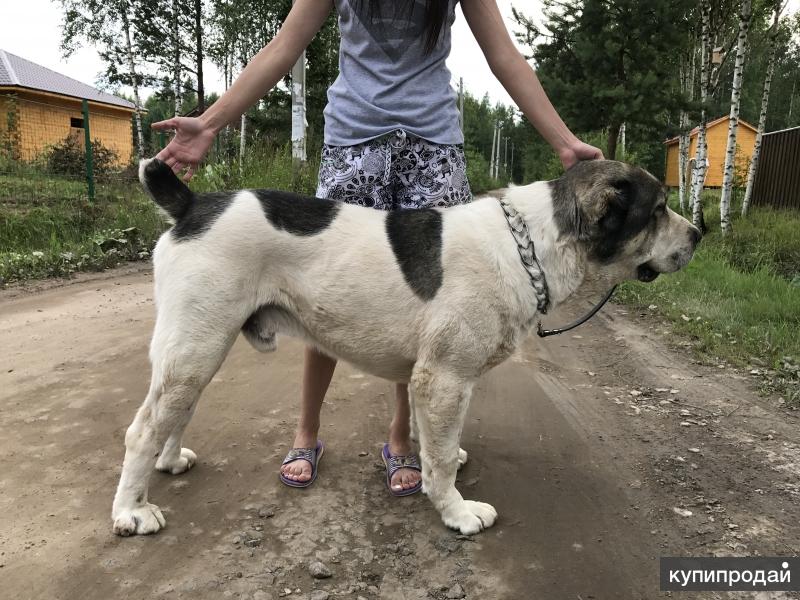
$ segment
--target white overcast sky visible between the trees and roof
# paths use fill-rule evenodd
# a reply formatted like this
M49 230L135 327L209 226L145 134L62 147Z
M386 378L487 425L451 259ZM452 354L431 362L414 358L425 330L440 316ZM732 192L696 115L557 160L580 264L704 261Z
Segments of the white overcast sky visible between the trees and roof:
M497 0L509 29L512 27L511 3L512 0ZM514 4L536 21L541 20L540 0L515 0ZM3 19L0 20L0 49L95 85L103 65L92 48L81 48L68 59L61 55L60 3L51 0L9 0L4 5ZM790 0L787 13L798 10L800 0ZM509 95L489 70L460 8L457 9L453 25L453 48L447 64L453 74L454 84L457 85L459 77L463 77L464 87L474 96L482 97L488 93L494 102L512 104ZM223 84L220 72L211 64L206 65L205 69L206 89L221 92Z

